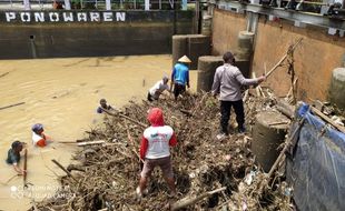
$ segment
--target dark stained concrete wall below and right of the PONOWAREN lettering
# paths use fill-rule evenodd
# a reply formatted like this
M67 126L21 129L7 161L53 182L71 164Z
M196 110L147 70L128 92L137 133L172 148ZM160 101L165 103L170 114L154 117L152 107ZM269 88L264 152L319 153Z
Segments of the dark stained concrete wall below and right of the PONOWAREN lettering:
M1 21L0 59L170 53L172 34L193 32L189 11L131 13L125 22Z

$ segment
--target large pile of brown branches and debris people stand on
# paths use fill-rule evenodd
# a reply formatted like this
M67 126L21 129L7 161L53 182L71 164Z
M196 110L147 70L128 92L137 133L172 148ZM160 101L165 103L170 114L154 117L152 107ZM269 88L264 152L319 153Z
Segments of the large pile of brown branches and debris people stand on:
M247 124L254 123L254 117L260 110L273 108L274 101L249 93L245 102ZM157 168L150 178L148 194L138 199L135 190L142 167L138 149L145 125L148 125L147 111L152 107L162 109L165 123L172 127L178 139L178 144L171 149L178 194L169 197L168 187ZM230 125L235 131L234 115ZM60 179L62 188L57 193L69 197L47 199L37 204L37 209L169 210L180 199L195 199L225 188L189 203L186 209L259 210L264 207L282 210L285 195L275 193L278 188L265 189L259 197L255 193L263 173L256 168L250 151L250 131L246 134L233 131L230 137L219 141L216 139L219 119L218 100L206 93L185 94L178 101L166 97L166 100L154 103L129 102L121 113L106 115L101 127L88 132L89 137L83 141L105 140L106 143L83 147L75 155L79 164L68 167L71 173ZM256 172L254 182L244 185L244 180L253 171Z

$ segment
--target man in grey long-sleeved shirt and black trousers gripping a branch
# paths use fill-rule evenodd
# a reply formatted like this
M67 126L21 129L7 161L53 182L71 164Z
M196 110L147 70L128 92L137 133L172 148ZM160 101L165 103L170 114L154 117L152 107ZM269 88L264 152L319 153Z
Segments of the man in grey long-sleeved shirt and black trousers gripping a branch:
M226 52L223 56L223 60L224 64L217 68L211 88L211 93L214 96L220 93L221 131L217 135L217 139L223 139L228 135L228 121L230 119L231 107L234 107L236 113L238 132L245 132L245 113L240 87L257 86L266 79L265 76L256 79L246 79L239 69L235 67L235 57L231 52Z

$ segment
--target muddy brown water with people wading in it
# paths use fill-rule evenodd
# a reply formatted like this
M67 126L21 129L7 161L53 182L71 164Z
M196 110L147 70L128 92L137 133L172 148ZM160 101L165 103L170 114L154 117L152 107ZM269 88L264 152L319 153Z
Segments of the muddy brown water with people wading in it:
M83 138L99 127L99 99L120 108L146 99L147 90L164 74L170 76L171 56L0 60L0 210L27 210L32 201L59 189L65 175L51 159L67 167L77 149L58 141ZM190 72L191 91L196 71ZM55 142L45 149L31 144L31 125L40 122ZM28 189L22 177L4 160L13 140L27 142ZM22 160L21 160L22 167Z

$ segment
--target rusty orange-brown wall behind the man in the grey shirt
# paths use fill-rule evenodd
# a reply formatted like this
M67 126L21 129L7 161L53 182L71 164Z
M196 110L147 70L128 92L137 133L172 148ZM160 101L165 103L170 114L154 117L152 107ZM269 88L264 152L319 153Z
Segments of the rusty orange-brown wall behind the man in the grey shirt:
M234 37L246 29L246 17L216 10L214 28L217 31L213 33L213 52L221 54L226 49L236 49L237 40ZM220 32L221 26L226 29L224 32ZM305 101L327 100L332 71L342 66L345 38L328 36L326 29L297 28L288 21L268 21L265 17L260 17L255 37L252 70L257 74L264 73L266 62L268 71L280 60L288 46L298 38L304 40L295 51L295 71L298 77L297 98ZM267 84L277 96L286 96L290 87L287 68L277 69L267 80Z

